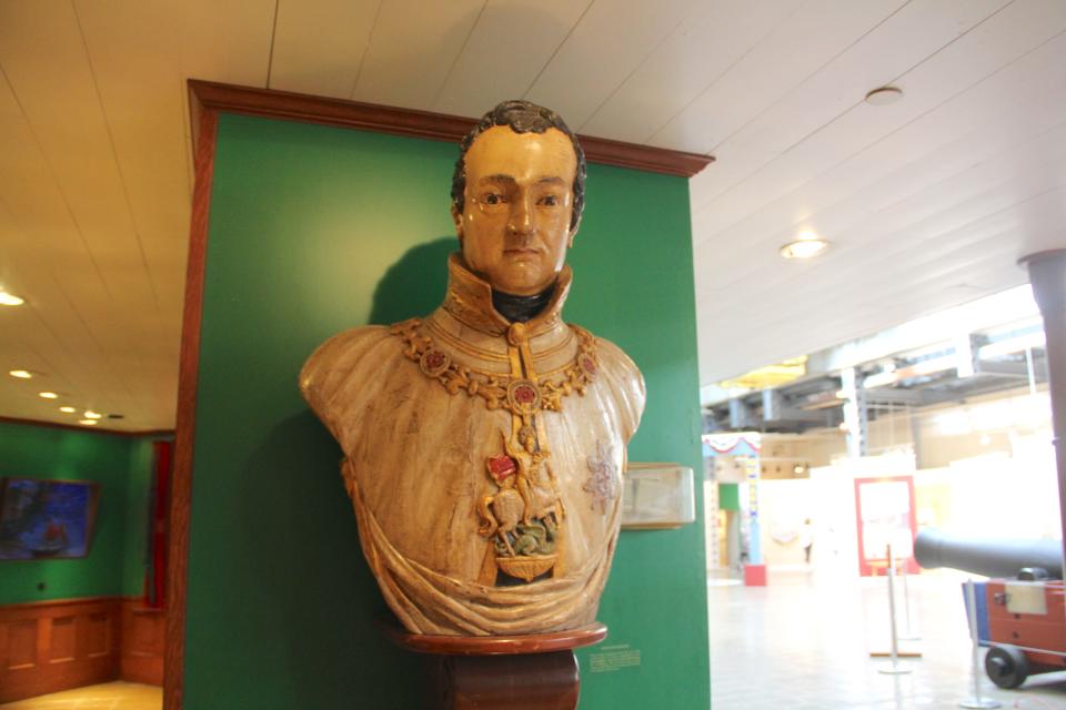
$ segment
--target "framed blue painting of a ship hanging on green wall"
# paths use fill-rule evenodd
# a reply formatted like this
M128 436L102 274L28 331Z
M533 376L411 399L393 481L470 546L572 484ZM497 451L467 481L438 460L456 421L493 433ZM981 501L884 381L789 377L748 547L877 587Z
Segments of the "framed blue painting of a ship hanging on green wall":
M99 500L89 480L0 478L0 560L86 557Z

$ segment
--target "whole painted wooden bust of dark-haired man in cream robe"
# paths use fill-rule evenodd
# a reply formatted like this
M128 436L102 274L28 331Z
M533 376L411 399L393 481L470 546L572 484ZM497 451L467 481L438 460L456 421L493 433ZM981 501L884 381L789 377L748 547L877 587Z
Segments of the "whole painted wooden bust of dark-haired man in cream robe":
M363 551L404 627L560 631L595 620L644 381L562 321L584 154L509 101L462 143L444 303L323 343L300 387L344 450Z

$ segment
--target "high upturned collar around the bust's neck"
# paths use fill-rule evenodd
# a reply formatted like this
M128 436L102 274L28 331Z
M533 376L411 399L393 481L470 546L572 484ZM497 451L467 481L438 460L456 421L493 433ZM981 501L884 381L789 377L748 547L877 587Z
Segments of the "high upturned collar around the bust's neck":
M514 324L523 326L517 329L533 337L555 327L562 320L572 278L570 266L563 266L551 301L530 321ZM463 325L490 335L503 335L512 326L511 321L492 307L492 286L471 273L459 253L447 257L447 295L443 308Z

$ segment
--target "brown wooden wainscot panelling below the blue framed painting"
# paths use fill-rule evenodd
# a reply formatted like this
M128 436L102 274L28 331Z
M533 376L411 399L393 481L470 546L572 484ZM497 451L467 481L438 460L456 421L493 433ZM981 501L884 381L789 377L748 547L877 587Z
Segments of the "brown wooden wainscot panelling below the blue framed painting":
M114 597L0 608L0 702L115 679L119 611Z

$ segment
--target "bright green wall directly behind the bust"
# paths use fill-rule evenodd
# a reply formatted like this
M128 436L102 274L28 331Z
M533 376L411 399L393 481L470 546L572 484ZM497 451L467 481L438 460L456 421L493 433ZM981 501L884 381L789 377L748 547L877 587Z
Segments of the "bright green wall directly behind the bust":
M440 303L455 248L455 156L447 143L220 121L188 710L420 704L420 659L375 628L388 610L359 548L340 450L300 398L296 374L341 329ZM619 343L644 372L648 406L631 458L701 470L687 182L591 165L587 195L567 320ZM601 608L611 637L581 652L582 708L708 707L703 570L698 525L623 534Z

